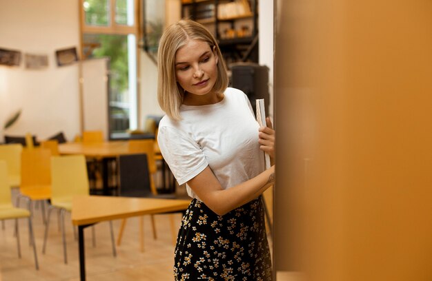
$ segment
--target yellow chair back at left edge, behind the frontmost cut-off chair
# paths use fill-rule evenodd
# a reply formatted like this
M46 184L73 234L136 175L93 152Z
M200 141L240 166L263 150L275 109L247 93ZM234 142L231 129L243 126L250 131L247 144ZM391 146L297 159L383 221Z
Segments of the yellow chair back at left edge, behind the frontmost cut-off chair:
M19 143L0 145L0 160L5 160L8 166L8 180L11 187L21 184L21 152L23 146Z

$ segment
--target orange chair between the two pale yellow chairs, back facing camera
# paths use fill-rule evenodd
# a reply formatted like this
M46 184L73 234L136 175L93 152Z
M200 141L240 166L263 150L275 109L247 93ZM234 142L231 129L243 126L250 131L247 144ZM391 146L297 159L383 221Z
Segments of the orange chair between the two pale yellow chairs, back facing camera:
M28 210L35 200L45 202L51 198L51 152L46 148L23 149L21 153L21 185L17 204L22 197L28 199ZM41 204L43 223L46 222L45 205Z

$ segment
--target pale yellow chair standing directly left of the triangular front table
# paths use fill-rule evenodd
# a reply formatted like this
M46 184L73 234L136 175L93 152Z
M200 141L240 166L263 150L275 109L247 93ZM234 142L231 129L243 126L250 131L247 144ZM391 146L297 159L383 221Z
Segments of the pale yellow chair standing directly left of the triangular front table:
M72 198L74 196L86 196L89 194L86 158L83 155L52 156L51 158L51 205L48 209L48 218L45 225L42 253L46 250L50 214L52 209L58 209L60 213L61 234L63 239L64 263L68 263L66 252L66 235L64 229L64 214L72 211ZM112 252L116 256L114 231L110 221L112 240Z

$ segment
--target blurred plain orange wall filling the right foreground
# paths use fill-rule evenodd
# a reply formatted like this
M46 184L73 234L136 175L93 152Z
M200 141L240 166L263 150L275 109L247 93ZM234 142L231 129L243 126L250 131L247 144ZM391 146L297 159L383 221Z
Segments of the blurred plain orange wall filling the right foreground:
M275 268L432 280L432 2L276 10Z

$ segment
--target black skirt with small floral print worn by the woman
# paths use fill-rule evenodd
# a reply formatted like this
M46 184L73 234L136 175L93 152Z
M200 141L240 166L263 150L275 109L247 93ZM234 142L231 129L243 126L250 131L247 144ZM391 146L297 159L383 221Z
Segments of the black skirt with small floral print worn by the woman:
M175 280L271 280L261 198L218 216L193 199L175 247Z

